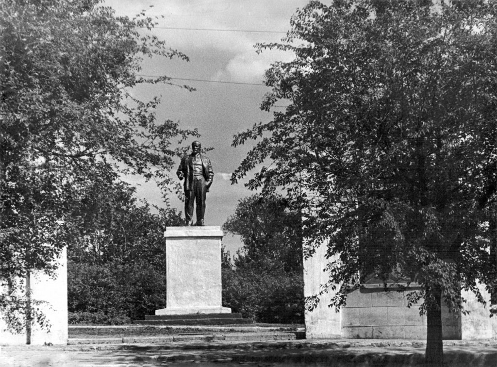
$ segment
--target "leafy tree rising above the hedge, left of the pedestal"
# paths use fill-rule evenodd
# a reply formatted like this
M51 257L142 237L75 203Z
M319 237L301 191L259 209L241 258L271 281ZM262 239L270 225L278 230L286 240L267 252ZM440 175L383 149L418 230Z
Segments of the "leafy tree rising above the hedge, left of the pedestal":
M182 225L175 209L138 202L136 189L127 183L95 181L80 197L73 216L79 227L69 245L68 257L78 263L104 264L113 260L131 263L148 259L164 267L166 226Z

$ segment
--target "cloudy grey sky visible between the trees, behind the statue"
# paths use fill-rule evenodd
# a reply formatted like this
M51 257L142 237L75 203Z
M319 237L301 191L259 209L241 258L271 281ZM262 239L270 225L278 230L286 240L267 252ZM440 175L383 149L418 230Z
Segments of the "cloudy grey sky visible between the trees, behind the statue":
M117 15L133 17L147 10L148 16L158 16L159 24L152 34L189 57L189 62L146 60L140 74L192 79L173 82L194 87L195 92L168 85L147 85L135 89L133 94L143 100L161 95L162 102L156 110L158 121L170 119L178 122L180 128L197 128L202 146L214 148L208 153L215 176L206 199L207 226L221 226L234 213L238 200L253 193L243 183L232 185L229 180L250 148L250 145L232 147L233 137L255 123L271 120L272 111L260 110L264 94L270 91L263 85L264 71L275 61L293 59L293 54L288 52L257 54L254 45L280 41L290 28L291 16L307 2L107 0L105 3L112 6ZM173 177L175 170L176 167ZM136 185L138 197L161 206L160 191L155 183L145 183L141 177L126 177L126 181ZM184 212L183 203L174 194L171 194L171 205ZM240 238L225 236L223 245L234 254L241 246Z

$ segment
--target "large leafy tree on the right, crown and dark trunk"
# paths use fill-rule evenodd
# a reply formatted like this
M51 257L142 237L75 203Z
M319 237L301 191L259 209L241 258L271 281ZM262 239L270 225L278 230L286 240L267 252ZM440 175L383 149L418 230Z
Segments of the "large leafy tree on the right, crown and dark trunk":
M261 108L288 106L233 143L258 140L233 183L265 163L248 187L286 189L307 256L330 239L332 305L369 275L421 286L432 365L442 299L464 312L461 289L496 294L496 19L485 0L311 1L258 45L295 54L266 71Z

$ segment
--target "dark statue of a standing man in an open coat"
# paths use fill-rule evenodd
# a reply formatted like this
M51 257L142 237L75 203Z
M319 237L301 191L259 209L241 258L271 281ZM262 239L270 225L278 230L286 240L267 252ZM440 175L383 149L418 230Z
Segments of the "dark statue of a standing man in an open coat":
M181 159L176 175L179 180L185 180L185 216L186 225L193 225L193 202L196 204L197 222L195 225L204 225L205 196L214 178L210 159L200 153L202 145L198 141L191 143L191 154Z

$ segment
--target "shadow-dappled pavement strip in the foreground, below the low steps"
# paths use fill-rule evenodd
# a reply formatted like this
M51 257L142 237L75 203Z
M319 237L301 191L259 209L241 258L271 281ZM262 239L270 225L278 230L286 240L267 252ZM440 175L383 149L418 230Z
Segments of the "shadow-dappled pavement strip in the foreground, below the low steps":
M222 347L222 346L221 346ZM162 349L160 346L123 346L121 349L87 351L10 350L0 353L0 365L8 367L159 367L159 366L420 366L424 348L264 348L249 344L243 348ZM447 366L497 365L492 346L445 347Z

